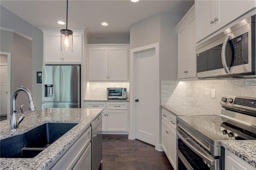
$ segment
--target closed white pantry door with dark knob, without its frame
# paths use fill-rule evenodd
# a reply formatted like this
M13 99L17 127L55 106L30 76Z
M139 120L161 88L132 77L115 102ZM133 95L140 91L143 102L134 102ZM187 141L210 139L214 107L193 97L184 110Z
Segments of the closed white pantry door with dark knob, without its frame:
M155 145L156 51L136 53L136 138Z

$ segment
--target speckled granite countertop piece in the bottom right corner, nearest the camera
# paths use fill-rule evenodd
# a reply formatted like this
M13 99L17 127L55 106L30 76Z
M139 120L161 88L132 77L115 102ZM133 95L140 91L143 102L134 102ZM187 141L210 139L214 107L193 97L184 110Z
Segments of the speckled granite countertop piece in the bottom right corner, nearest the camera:
M222 146L256 168L256 141L223 141Z

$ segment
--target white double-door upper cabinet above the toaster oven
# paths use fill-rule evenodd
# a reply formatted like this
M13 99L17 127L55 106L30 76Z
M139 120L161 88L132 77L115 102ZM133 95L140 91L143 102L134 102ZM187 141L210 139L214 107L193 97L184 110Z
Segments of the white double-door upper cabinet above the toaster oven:
M128 81L128 46L88 48L89 81Z

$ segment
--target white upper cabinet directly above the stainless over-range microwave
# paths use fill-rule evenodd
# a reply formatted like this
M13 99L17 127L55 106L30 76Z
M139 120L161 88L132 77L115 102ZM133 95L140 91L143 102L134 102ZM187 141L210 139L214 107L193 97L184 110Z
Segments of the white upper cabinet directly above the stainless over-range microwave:
M196 42L252 10L255 0L195 0Z

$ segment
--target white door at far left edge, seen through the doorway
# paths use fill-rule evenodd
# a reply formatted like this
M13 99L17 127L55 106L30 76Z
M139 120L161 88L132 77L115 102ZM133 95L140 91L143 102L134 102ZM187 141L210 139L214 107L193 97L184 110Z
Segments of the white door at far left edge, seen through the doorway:
M7 115L7 65L0 65L0 115Z

